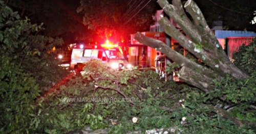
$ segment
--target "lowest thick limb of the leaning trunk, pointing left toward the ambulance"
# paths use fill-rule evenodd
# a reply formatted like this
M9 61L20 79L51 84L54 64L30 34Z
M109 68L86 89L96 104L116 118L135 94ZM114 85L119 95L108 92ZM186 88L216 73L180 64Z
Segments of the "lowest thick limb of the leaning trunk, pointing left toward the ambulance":
M141 33L135 34L135 39L143 44L147 44L152 48L164 53L166 57L172 59L174 62L183 67L183 72L180 73L179 78L184 82L194 85L203 91L214 90L214 87L210 85L213 79L221 78L218 74L215 74L212 70L209 70L205 66L202 66L194 61L191 61L169 48L165 43L157 39L146 37ZM190 76L191 75L191 76ZM207 83L207 84L206 84Z

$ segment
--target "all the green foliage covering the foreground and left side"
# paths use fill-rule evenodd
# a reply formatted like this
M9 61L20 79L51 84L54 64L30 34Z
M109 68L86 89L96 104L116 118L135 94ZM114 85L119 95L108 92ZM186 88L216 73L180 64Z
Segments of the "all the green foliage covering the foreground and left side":
M59 68L51 51L61 42L37 35L41 25L21 20L16 12L1 6L1 133L65 133L88 126L109 128L109 133L143 133L173 126L184 133L255 132L249 124L256 121L256 72L247 66L252 65L250 53L255 47L243 46L246 51L240 52L249 52L236 60L250 77L214 80L215 91L208 93L185 83L163 82L152 70L115 71L91 60L82 75L74 75L42 96L49 81L58 82L68 74ZM167 71L178 67L171 64ZM224 116L211 106L223 109ZM132 122L134 117L138 122ZM244 126L238 127L230 119L239 119ZM113 125L110 120L118 123Z

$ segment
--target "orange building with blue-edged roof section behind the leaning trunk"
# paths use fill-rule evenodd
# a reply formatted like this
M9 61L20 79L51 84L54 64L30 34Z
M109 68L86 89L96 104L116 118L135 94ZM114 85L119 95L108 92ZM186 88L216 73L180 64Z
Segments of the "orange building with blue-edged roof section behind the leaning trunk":
M180 51L183 49L178 41L169 37L164 33L163 28L158 24L158 21L161 17L168 17L165 15L163 10L158 10L156 14L153 16L155 20L155 24L150 27L149 32L142 32L145 36L152 37L155 39L159 39L164 42L170 48ZM180 26L172 19L169 18L170 22L177 28L180 29ZM256 37L255 32L249 31L228 31L222 30L222 21L216 21L214 27L211 29L215 34L217 39L219 40L222 48L225 50L227 56L232 61L232 53L236 51L243 43L249 44L252 38ZM129 45L129 61L134 65L139 65L142 54L146 54L147 56L147 66L152 67L155 66L154 59L156 57L157 51L151 47L147 47L144 44L141 44L137 40L134 39L134 34L131 35L131 44ZM160 53L160 52L159 52ZM185 55L185 51L184 51ZM170 60L167 59L167 62Z

